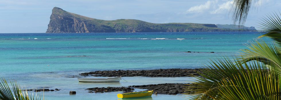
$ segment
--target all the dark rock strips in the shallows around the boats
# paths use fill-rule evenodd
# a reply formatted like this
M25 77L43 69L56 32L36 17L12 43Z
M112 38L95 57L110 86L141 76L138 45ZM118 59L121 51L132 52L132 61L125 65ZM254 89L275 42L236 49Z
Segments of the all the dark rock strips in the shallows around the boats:
M95 76L95 77L190 77L191 75L200 76L196 72L200 72L201 69L153 69L153 70L105 70L105 71L93 71L88 73L80 73L79 75L83 77ZM177 95L182 93L189 93L190 90L188 86L191 83L159 83L159 84L143 84L143 85L133 85L129 84L122 87L92 87L86 88L87 93L108 93L122 91L123 93L135 92L134 89L145 89L144 91L154 90L155 94L165 94L165 95ZM30 89L28 91L59 91L60 89Z

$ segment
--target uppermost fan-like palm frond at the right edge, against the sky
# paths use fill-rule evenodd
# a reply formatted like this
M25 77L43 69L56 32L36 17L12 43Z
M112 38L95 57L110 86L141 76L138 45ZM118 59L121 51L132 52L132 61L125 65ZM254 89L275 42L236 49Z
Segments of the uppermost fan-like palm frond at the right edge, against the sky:
M281 15L280 12L279 14ZM265 34L259 37L270 37L281 45L281 19L276 12L262 18L259 24L260 28L265 31L263 32Z

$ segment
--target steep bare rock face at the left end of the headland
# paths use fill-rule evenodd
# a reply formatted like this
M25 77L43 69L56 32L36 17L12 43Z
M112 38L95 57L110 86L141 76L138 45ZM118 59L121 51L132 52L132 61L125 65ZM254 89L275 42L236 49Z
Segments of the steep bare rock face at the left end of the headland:
M89 21L90 18L69 13L61 8L54 7L46 33L115 32L111 27L94 25L88 23Z

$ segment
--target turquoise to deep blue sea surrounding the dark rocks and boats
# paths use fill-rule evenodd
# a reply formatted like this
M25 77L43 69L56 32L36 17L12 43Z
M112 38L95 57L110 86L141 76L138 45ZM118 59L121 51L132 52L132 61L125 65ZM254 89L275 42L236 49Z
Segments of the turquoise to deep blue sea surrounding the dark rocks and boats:
M239 54L240 49L247 49L243 44L260 35L258 32L1 33L0 77L16 80L28 89L61 89L44 92L44 99L48 100L118 99L116 95L122 92L87 93L85 89L187 83L193 78L123 77L128 82L81 83L72 77L97 70L201 68L209 59ZM69 91L77 94L69 95ZM153 95L142 99L183 97Z

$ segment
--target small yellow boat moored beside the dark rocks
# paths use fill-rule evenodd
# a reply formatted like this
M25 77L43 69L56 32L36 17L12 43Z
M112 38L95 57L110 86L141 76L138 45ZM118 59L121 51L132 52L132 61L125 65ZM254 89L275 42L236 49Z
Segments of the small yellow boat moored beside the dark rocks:
M117 94L118 98L136 98L136 97L150 97L153 93L152 91L142 91L142 92L130 92L130 93L122 93L122 94Z

